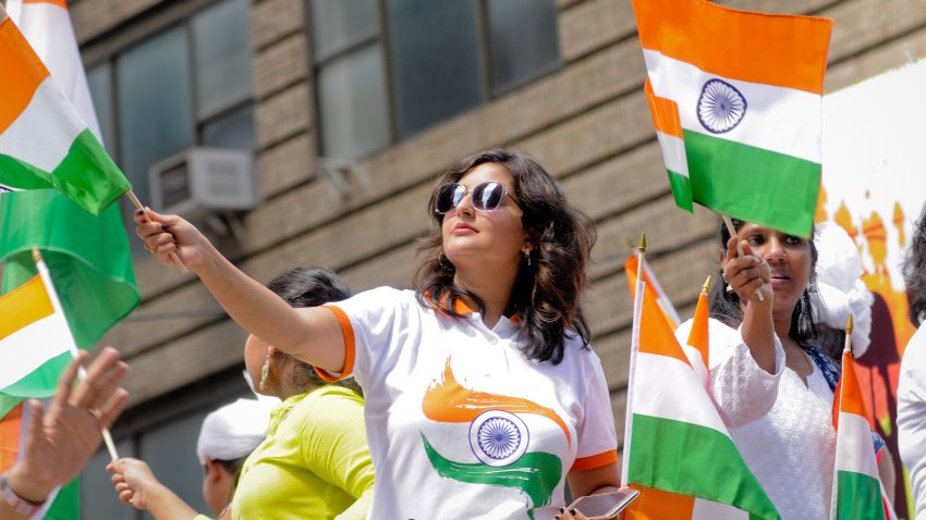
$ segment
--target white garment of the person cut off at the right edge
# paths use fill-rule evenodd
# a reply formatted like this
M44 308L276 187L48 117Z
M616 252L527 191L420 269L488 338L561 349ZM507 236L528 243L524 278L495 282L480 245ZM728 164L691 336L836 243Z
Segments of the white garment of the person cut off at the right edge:
M926 324L910 338L897 387L900 458L910 471L916 520L926 520Z

